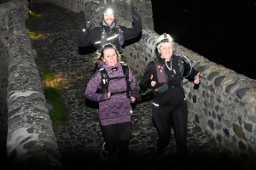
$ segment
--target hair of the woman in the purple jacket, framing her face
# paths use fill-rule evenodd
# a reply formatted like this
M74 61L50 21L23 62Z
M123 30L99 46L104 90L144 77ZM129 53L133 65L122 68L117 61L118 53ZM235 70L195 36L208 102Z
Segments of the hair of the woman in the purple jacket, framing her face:
M112 43L107 43L105 44L102 49L101 49L101 53L98 53L96 52L96 58L94 58L92 61L93 61L93 64L97 64L97 65L102 65L103 61L102 61L102 58L104 57L104 50L105 49L108 49L108 48L113 48L115 53L117 54L117 59L119 62L122 63L122 60L121 60L121 55L119 54L118 50L115 48L115 46L112 44Z

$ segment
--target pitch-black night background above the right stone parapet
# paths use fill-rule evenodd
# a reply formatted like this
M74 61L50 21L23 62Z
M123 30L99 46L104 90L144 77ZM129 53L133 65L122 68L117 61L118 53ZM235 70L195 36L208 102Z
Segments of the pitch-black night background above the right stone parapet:
M151 0L154 31L256 79L255 0Z

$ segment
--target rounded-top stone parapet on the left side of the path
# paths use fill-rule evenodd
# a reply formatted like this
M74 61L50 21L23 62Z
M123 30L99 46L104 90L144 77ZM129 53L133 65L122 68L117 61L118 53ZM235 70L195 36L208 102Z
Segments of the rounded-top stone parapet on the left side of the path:
M7 91L7 154L12 165L31 169L61 167L61 156L31 41L23 12L18 9L9 12Z

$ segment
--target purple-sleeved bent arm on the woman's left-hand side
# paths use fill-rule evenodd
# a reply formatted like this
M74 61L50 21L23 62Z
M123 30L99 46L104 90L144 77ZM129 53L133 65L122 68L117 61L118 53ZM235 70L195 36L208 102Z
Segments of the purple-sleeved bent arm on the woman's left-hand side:
M90 99L92 101L103 101L109 99L108 93L105 94L96 94L98 88L101 87L102 76L100 71L96 71L96 73L90 78L90 81L87 84L87 88L85 90L85 98Z

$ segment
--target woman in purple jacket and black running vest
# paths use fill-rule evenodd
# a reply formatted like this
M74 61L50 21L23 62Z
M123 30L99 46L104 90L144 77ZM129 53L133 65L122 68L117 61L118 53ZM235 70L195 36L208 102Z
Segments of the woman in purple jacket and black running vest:
M123 65L120 63L120 55L111 43L102 48L95 63L100 67L90 78L85 97L99 102L99 118L105 139L101 159L107 161L109 153L115 152L119 146L119 164L124 165L129 156L131 103L134 103L137 97L136 80L128 67L131 88L131 97L128 97L128 83L125 80ZM102 70L107 72L104 74ZM106 73L109 78L106 78ZM103 90L102 87L107 82L108 88ZM100 94L96 93L97 89L101 90Z

